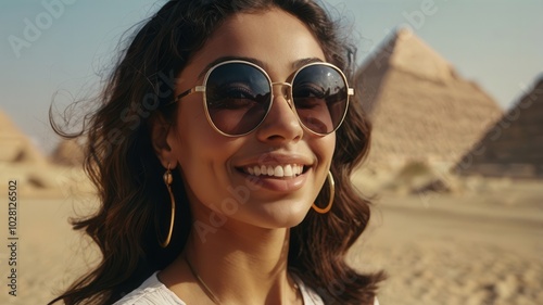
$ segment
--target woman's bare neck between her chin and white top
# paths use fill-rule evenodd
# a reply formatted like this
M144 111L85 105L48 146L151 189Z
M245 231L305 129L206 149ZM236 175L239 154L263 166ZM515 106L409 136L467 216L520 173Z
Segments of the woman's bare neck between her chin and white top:
M289 232L225 224L203 240L193 230L182 255L222 301L281 304L293 285L287 272Z

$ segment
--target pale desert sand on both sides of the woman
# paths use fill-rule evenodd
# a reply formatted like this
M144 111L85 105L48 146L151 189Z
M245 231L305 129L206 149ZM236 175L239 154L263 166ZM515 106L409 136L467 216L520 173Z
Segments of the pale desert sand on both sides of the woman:
M46 304L96 262L89 241L67 223L96 200L65 189L40 199L21 189L17 296L9 295L2 246L0 304ZM389 189L374 203L350 262L388 272L382 305L543 304L543 181L479 178L462 192L424 195Z

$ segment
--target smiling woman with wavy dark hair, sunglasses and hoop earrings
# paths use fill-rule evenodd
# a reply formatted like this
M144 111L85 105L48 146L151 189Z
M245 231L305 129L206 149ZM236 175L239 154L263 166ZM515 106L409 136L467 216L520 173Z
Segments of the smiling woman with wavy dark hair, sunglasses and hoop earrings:
M382 275L344 262L369 219L351 64L313 1L167 2L90 116L101 206L75 228L103 259L54 301L374 304Z

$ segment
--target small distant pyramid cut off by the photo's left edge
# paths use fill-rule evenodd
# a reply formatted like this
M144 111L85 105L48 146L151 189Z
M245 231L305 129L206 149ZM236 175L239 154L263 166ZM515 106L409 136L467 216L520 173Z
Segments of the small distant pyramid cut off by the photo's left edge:
M45 165L47 160L0 110L0 164Z

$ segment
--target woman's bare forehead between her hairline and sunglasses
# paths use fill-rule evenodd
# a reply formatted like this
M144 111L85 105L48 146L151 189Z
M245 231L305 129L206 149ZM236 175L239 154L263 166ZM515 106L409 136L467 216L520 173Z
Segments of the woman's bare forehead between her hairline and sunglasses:
M293 64L304 59L325 61L323 49L310 28L279 9L227 18L186 71L201 75L210 63L229 56L256 59L272 77L292 73Z

